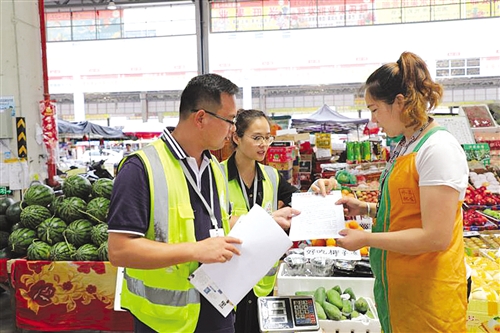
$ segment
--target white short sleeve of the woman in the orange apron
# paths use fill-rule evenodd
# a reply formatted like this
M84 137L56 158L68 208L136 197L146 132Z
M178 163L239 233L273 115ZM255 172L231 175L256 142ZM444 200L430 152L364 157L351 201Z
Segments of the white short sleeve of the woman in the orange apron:
M420 186L450 186L464 199L469 181L467 158L449 132L438 131L427 139L418 151L416 166Z

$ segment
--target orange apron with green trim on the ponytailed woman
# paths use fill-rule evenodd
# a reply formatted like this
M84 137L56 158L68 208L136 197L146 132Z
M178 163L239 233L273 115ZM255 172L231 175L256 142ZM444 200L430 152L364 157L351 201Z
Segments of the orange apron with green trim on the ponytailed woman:
M417 152L437 130L427 132L413 152L396 159L384 184L372 232L422 228ZM437 203L438 204L438 203ZM457 204L448 249L405 255L372 248L375 301L384 333L466 332L467 284L462 240L462 202Z

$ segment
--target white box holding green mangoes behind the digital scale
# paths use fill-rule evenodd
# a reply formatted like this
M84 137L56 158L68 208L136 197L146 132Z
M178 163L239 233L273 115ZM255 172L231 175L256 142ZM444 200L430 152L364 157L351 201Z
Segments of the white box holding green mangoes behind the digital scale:
M286 276L285 267L280 265L277 277L278 296L294 295L296 291L313 291L318 287L332 288L336 285L342 290L351 287L357 297L363 297L375 318L378 318L373 302L374 278L360 277L314 277L314 276ZM380 321L370 319L367 322L353 320L320 320L319 325L324 333L379 333Z

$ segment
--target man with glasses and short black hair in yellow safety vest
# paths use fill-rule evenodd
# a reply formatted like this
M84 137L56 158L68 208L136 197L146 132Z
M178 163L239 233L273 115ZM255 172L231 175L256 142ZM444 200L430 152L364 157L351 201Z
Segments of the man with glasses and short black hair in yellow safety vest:
M235 127L238 87L216 75L191 79L179 123L119 165L108 214L109 259L125 267L121 307L136 332L234 331L188 281L200 263L231 260L227 181L210 150Z

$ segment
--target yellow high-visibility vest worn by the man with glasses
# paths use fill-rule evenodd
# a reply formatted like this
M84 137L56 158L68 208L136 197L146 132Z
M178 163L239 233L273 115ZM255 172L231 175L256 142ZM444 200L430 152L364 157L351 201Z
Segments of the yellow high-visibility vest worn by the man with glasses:
M129 156L134 155L142 160L149 178L151 217L145 237L170 244L196 242L194 213L180 162L163 140ZM227 182L214 157L209 167L217 185L222 226L227 234ZM125 268L122 308L158 332L194 332L200 314L200 294L188 277L197 268L198 262L147 270Z

